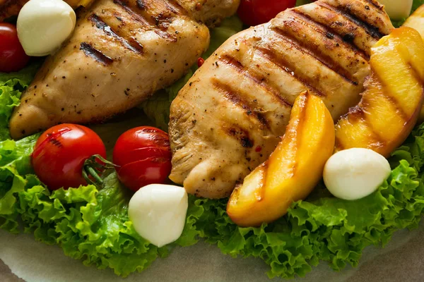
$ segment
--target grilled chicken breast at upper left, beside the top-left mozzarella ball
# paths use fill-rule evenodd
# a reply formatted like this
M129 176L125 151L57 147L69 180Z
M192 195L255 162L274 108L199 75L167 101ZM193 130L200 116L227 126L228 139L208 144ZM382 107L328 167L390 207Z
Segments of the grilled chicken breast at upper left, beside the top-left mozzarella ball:
M199 15L216 23L238 3L198 6ZM45 61L13 112L13 138L126 111L181 78L209 44L206 25L177 0L98 0L78 16L69 42Z

